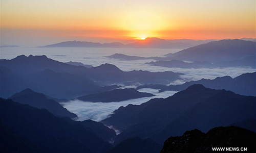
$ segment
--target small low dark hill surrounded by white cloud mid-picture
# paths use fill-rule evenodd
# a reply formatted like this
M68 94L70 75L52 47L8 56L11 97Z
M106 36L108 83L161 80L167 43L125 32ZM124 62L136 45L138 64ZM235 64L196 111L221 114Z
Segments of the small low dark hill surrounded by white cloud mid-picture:
M133 88L126 89L115 89L111 91L89 94L86 96L78 97L77 99L82 101L92 101L92 102L112 102L112 101L123 101L129 99L136 99L142 97L151 97L154 94L139 92Z

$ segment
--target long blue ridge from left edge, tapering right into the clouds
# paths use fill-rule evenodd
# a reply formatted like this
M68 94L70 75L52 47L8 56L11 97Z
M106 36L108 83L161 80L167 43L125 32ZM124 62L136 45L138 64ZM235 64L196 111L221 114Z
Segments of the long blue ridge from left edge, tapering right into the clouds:
M18 56L12 60L0 60L2 97L9 97L12 94L30 88L55 98L75 98L86 94L107 91L101 86L122 83L131 85L134 83L168 84L180 79L183 73L149 72L142 70L122 71L112 64L87 68L58 62L46 56ZM12 77L8 77L12 75ZM20 81L17 85L15 78ZM29 85L27 85L29 84ZM17 86L17 87L16 87ZM35 86L35 87L34 87ZM19 87L19 88L18 88ZM18 89L17 89L18 88ZM6 91L8 90L8 91Z

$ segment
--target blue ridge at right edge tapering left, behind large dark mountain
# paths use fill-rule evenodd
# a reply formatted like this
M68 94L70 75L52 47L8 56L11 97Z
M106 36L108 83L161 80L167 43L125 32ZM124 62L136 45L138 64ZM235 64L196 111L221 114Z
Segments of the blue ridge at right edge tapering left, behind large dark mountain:
M159 92L163 92L167 90L181 91L181 90L185 90L186 88L194 84L202 84L203 86L211 89L225 89L241 95L256 96L256 72L244 73L234 79L232 79L229 76L225 76L225 77L217 77L214 80L201 79L199 81L189 81L182 85L164 86L164 85L148 84L148 85L139 86L136 89L137 90L142 88L160 89Z

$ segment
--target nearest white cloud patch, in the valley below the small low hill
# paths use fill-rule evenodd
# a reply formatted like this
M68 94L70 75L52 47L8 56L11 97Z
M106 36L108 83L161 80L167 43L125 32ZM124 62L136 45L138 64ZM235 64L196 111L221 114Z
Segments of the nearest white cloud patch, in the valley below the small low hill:
M147 102L151 98L166 98L172 96L177 91L165 91L158 93L156 89L140 89L140 92L148 92L156 94L154 97L143 97L137 99L124 100L120 102L111 103L92 103L84 102L78 99L70 100L66 103L61 103L63 107L67 108L70 112L75 113L78 117L76 120L83 121L92 119L94 121L101 121L111 115L116 109L121 106L127 106L129 104L140 105Z

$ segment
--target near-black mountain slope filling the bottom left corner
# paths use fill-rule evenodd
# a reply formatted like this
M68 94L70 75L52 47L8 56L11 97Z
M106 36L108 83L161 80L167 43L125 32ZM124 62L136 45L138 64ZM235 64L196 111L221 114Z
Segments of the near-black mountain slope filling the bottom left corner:
M63 121L45 109L37 109L15 103L11 99L1 98L0 112L1 122L8 131L12 132L12 138L18 141L18 143L2 142L1 150L5 148L5 150L16 152L15 148L18 148L19 152L25 152L28 150L27 145L30 150L36 150L33 152L99 153L112 148L111 144L86 130L82 125ZM7 134L1 137L4 137L4 140L10 139ZM26 143L25 146L23 146L24 143ZM19 147L20 145L23 147Z

